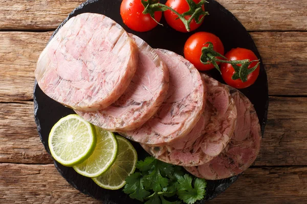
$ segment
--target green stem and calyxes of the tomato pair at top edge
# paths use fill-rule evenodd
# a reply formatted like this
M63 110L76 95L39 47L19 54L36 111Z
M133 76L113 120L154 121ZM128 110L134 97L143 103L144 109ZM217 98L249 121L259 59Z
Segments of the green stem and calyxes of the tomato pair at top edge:
M200 1L198 4L193 2L193 0L186 0L188 5L189 5L189 11L184 12L183 14L178 13L174 9L159 3L159 0L141 0L143 6L144 6L144 11L143 14L149 14L153 20L155 20L155 12L156 11L166 11L170 10L174 12L176 15L178 15L177 19L180 19L183 24L185 25L186 30L189 32L190 31L190 23L194 19L197 24L202 23L204 20L204 17L206 15L209 15L207 11L204 11L202 6L205 3L208 3L205 0ZM203 16L202 16L203 15ZM185 16L191 16L189 19L186 19ZM201 17L202 16L202 17ZM201 17L201 18L200 18ZM156 21L156 20L155 20ZM157 21L156 21L157 22ZM157 22L159 23L159 22ZM161 23L159 23L162 25Z

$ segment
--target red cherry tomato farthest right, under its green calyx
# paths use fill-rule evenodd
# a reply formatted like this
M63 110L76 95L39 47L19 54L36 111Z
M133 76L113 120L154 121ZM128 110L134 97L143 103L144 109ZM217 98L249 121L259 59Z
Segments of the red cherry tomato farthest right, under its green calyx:
M231 49L225 55L225 57L228 58L229 60L245 60L245 59L249 59L250 61L258 60L258 58L252 52L252 50L245 49L245 48L234 48L234 49ZM253 68L256 65L257 65L257 62L253 62L253 63L251 63L249 65L248 69ZM222 63L221 64L221 72L222 72L222 77L223 77L224 81L229 86L232 86L232 87L237 88L237 89L247 88L247 87L251 86L252 84L254 84L255 81L258 78L259 70L260 70L260 66L258 65L256 70L253 71L252 73L250 73L247 76L247 81L246 82L242 82L242 80L240 80L240 79L237 79L237 80L232 80L231 79L232 75L235 73L235 71L234 71L234 69L233 69L231 64L227 64L227 63Z

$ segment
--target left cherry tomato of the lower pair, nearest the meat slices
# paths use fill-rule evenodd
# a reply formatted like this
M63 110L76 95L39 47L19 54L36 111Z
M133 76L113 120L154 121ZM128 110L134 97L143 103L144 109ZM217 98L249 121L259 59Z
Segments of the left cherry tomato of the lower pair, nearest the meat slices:
M207 42L212 42L213 50L224 55L224 45L220 38L212 33L198 32L189 37L184 45L184 57L189 60L198 70L205 71L213 69L213 64L201 62L202 48L208 47ZM217 62L217 64L220 64Z

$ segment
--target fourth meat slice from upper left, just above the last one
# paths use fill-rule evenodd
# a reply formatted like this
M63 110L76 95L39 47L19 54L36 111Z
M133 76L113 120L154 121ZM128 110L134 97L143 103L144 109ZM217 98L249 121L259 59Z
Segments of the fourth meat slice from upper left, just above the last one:
M143 148L161 161L181 166L198 166L209 162L226 147L236 124L236 107L229 89L202 74L207 85L205 111L185 138L164 147L142 144Z

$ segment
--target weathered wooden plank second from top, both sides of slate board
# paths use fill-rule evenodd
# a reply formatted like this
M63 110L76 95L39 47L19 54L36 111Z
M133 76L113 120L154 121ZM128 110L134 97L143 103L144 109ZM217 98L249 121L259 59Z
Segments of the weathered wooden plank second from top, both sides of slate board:
M33 98L36 62L51 34L0 32L0 101ZM253 32L252 37L268 71L270 95L307 95L307 32Z

